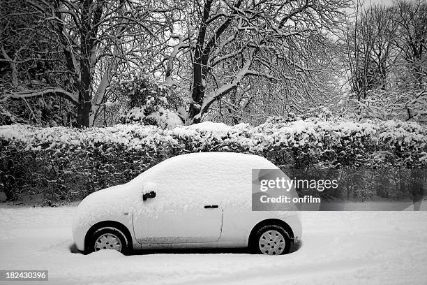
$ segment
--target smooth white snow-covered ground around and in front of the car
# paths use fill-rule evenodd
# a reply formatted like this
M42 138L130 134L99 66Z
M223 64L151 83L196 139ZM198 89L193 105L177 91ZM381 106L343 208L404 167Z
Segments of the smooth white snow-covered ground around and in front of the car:
M75 209L3 205L0 270L49 270L48 284L427 284L427 212L302 212L304 242L287 256L84 256L70 251Z

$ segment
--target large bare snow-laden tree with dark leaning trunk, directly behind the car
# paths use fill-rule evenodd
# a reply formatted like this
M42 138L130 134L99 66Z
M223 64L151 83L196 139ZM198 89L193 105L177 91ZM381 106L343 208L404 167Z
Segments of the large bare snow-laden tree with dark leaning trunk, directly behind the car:
M186 13L195 17L181 19L174 33L178 43L167 59L169 67L178 61L177 68L190 70L188 124L200 122L213 103L239 92L248 78L308 94L319 72L312 51L327 41L347 2L192 1ZM170 68L165 75L172 82Z

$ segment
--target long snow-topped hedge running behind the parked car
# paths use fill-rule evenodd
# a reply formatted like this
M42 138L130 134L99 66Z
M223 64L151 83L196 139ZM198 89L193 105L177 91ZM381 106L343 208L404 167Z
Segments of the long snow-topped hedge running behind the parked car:
M269 119L260 126L204 122L161 129L0 126L0 188L8 198L44 193L77 199L121 184L171 156L187 152L245 152L278 166L427 165L427 131L414 122Z

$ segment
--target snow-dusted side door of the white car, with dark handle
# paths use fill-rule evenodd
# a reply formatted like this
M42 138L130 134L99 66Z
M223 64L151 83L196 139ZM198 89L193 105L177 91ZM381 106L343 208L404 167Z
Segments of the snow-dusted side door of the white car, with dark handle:
M216 242L223 224L222 198L211 195L218 184L209 183L209 166L188 159L172 159L142 177L155 198L139 203L133 227L141 244ZM144 176L144 175L142 175ZM211 193L211 194L209 194Z

